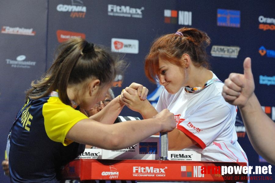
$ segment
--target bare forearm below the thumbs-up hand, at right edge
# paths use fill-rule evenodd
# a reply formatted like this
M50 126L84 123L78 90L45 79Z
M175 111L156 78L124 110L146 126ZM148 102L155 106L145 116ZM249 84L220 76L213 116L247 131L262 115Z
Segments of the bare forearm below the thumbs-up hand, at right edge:
M263 158L275 164L275 123L264 113L254 93L240 111L252 146Z

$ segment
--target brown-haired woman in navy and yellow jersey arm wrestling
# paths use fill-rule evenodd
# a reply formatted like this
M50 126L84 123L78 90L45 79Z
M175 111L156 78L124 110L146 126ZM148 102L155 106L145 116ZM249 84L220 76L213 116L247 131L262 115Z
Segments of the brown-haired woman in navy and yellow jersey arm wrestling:
M86 115L85 110L104 99L124 66L81 38L60 45L50 69L27 90L26 102L11 127L6 149L11 182L57 183L61 166L82 153L86 144L123 149L175 128L167 109L154 119L113 124L124 107L121 96L99 113ZM146 98L146 87L132 83L129 88L140 99Z

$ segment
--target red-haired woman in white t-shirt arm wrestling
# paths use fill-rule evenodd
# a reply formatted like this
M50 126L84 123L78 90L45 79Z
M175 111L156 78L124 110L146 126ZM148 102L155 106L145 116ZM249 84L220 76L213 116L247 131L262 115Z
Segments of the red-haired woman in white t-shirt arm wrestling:
M187 27L157 38L145 59L146 76L164 86L157 105L138 100L132 88L122 99L143 119L163 109L174 113L177 125L168 132L168 150L197 151L202 161L248 162L237 142L237 108L223 99L224 84L209 70L209 44L205 32Z

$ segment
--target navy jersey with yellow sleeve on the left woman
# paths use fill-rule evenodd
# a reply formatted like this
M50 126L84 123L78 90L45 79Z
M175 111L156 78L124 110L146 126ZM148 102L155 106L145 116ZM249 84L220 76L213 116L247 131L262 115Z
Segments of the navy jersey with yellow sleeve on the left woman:
M53 94L27 100L13 124L9 150L11 182L59 182L61 166L85 149L85 145L66 135L74 124L88 117L61 102L57 92Z

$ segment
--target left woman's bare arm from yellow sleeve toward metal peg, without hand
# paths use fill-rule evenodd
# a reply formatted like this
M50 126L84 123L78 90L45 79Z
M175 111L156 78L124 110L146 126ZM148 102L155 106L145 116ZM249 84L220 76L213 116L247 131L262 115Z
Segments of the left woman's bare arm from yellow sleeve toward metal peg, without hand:
M67 138L103 149L123 149L161 131L161 123L152 118L112 125L81 120L67 133Z

